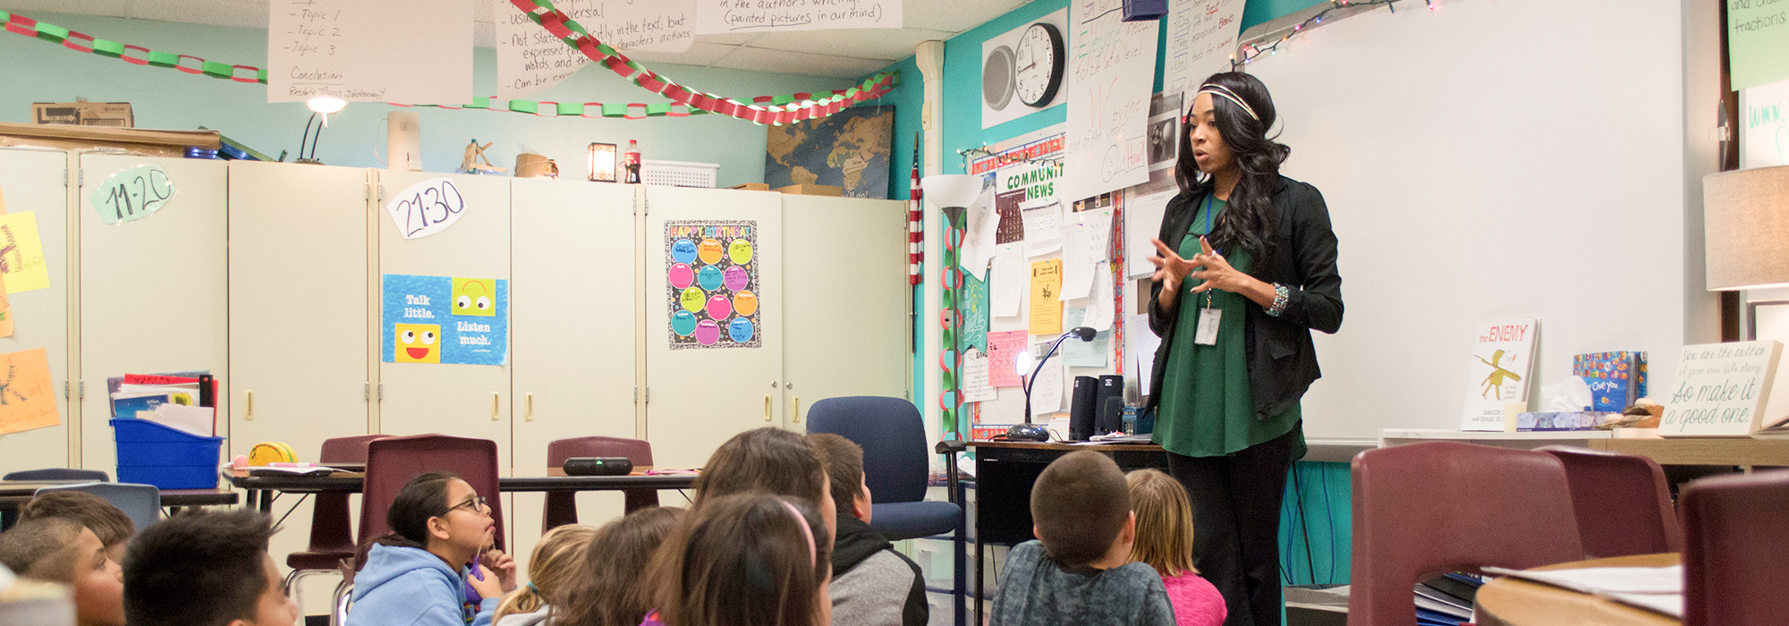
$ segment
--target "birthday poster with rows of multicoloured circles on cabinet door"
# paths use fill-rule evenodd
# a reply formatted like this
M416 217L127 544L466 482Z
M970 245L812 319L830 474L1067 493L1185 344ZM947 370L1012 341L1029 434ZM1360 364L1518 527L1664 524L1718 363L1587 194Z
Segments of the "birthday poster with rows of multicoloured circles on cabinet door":
M757 222L666 222L671 349L764 345Z

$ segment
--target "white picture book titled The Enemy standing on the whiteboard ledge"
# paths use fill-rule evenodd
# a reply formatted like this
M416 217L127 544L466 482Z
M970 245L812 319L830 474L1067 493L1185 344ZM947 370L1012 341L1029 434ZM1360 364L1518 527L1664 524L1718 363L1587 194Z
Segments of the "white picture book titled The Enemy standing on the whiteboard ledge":
M1462 431L1503 431L1506 404L1528 402L1539 326L1517 317L1483 320L1472 329Z

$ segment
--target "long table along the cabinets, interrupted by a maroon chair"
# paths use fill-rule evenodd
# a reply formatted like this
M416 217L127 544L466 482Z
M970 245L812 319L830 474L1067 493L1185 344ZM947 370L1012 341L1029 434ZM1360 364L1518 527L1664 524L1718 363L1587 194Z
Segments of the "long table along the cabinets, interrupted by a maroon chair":
M249 506L274 510L274 494L360 494L365 474L249 476L231 470L231 485L249 492ZM624 488L691 488L696 474L565 476L558 467L515 467L497 478L499 492L614 492Z

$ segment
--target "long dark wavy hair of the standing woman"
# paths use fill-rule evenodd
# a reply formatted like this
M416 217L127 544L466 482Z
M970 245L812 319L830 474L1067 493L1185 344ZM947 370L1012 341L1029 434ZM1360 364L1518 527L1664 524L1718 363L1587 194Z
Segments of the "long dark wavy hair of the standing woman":
M1229 89L1261 116L1256 120L1236 102L1211 97L1218 136L1231 148L1231 159L1242 172L1242 179L1236 181L1236 190L1229 197L1229 211L1224 211L1213 227L1211 241L1215 247L1240 247L1251 254L1261 254L1274 234L1274 188L1279 184L1279 165L1286 161L1292 148L1267 136L1267 129L1274 127L1276 113L1274 98L1267 95L1261 79L1242 72L1220 72L1208 77L1204 84ZM1188 113L1191 113L1191 102L1186 104ZM1183 193L1190 195L1195 191L1211 193L1213 188L1213 177L1199 172L1199 165L1193 163L1191 123L1181 129L1181 161L1174 168L1174 181L1179 182Z

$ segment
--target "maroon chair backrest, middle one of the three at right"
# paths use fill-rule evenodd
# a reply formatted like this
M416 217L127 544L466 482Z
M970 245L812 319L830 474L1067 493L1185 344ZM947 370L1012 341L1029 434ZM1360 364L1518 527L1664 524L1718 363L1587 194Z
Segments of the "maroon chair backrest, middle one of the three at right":
M1666 470L1646 456L1547 445L1565 463L1585 558L1683 551Z

